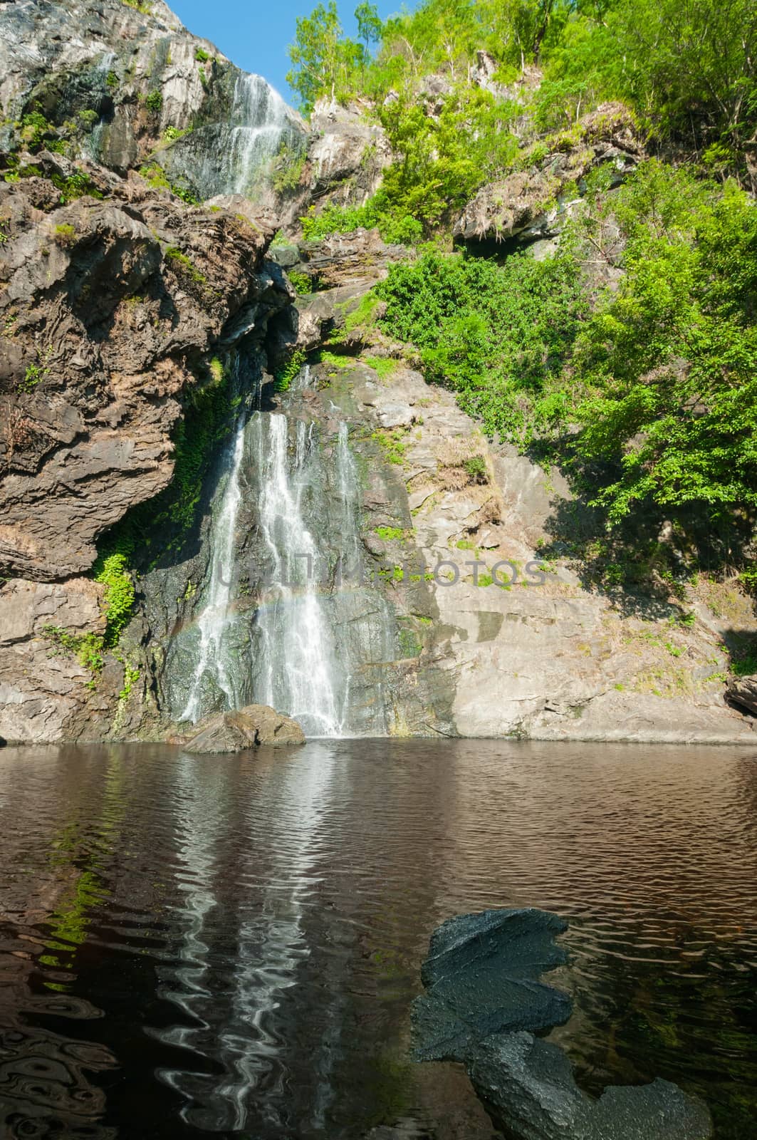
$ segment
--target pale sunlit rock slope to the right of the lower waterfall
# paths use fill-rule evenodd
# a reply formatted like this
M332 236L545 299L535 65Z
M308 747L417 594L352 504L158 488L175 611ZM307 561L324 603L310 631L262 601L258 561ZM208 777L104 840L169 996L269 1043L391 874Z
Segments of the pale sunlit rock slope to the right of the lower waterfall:
M332 340L365 357L319 366L309 410L323 423L349 418L367 473L366 557L385 568L404 629L393 731L754 746L751 718L723 699L735 612L718 619L692 592L693 625L652 596L627 600L624 613L569 557L544 563L551 520L571 511L560 472L488 441L453 393L404 361L385 359L380 375L376 356L392 347L369 319L334 327ZM738 622L756 628L747 600Z

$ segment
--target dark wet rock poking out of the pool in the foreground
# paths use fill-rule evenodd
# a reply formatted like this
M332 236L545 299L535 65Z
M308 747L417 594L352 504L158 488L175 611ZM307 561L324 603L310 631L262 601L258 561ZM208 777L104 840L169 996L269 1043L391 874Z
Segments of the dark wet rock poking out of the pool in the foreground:
M584 1093L557 1045L536 1033L563 1024L570 999L540 982L565 961L567 925L544 911L450 919L431 938L413 1009L418 1060L465 1065L495 1121L515 1140L708 1140L709 1113L668 1081Z

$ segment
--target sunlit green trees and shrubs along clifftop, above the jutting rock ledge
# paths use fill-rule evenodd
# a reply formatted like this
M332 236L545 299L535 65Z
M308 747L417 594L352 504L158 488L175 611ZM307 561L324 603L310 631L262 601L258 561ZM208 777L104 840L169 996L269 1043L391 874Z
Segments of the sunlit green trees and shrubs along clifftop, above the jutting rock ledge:
M752 0L425 0L383 24L364 2L356 16L363 42L343 35L334 0L298 19L288 80L306 113L321 96L368 100L396 161L363 213L312 217L309 236L429 234L510 166L524 114L543 137L609 100L634 111L650 146L757 186ZM494 87L480 85L480 52ZM540 82L516 91L535 65Z

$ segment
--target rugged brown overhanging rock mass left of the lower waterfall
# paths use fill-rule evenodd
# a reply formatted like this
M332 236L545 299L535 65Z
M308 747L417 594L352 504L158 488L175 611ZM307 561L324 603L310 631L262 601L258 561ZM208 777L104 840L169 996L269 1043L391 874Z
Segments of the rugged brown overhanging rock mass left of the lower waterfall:
M288 300L270 234L234 214L136 178L107 201L56 197L44 179L0 184L0 572L38 581L88 570L98 536L169 483L212 352Z

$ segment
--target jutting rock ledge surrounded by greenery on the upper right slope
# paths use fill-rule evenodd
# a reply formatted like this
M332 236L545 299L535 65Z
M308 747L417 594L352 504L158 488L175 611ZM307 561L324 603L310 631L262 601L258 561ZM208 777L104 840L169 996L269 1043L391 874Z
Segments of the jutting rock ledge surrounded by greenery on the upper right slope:
M534 144L531 154L550 153L522 170L482 187L453 226L459 242L523 243L556 237L579 209L581 184L604 166L617 185L644 156L633 116L621 104L605 104L585 115L572 131ZM529 152L526 152L524 163Z

